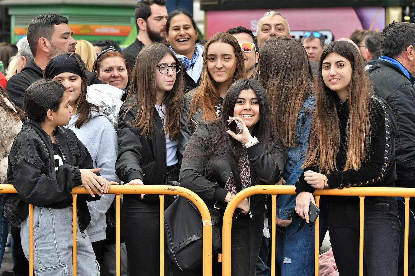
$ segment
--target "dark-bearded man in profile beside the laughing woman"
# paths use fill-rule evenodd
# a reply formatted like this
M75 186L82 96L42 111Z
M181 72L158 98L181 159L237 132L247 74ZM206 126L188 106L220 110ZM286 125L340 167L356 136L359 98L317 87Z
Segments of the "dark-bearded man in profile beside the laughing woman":
M131 68L135 59L145 45L166 42L167 9L166 0L141 0L135 6L135 26L137 38L125 48L124 54Z

